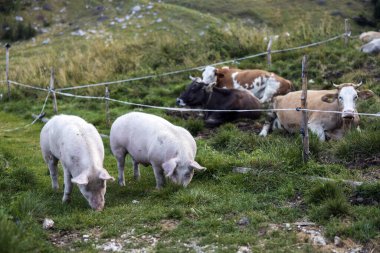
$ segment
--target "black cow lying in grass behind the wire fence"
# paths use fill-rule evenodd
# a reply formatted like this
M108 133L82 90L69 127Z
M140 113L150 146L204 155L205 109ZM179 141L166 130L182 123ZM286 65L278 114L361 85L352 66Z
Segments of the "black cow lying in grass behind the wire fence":
M192 78L192 83L177 98L177 105L201 107L208 110L254 110L260 109L260 101L247 90L216 88ZM214 127L237 118L257 119L260 112L206 112L205 123Z

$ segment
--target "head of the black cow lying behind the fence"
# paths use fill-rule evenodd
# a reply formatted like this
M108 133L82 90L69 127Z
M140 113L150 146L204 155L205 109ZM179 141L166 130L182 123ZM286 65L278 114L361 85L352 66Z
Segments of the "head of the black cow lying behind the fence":
M210 85L202 82L199 77L191 77L191 84L187 86L186 90L177 98L177 105L179 106L201 106L206 100Z

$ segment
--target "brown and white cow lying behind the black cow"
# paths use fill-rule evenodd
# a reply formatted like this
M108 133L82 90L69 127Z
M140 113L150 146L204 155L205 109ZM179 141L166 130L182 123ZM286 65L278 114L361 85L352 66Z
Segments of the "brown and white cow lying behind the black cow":
M241 70L207 66L202 77L204 83L216 83L218 88L247 89L261 103L270 102L274 96L285 95L293 89L289 80L260 69Z

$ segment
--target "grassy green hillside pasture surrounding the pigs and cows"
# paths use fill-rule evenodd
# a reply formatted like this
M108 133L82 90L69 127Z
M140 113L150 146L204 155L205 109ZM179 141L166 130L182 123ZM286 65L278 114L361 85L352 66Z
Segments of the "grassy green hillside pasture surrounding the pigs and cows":
M117 10L115 15L120 14L138 3L149 4L148 1L122 2L105 3L106 14L111 16L111 10ZM132 24L128 24L125 30L98 24L99 30L106 30L106 37L94 36L86 40L70 36L71 27L52 23L50 31L37 36L36 42L12 44L10 79L46 87L50 68L54 67L58 88L122 80L262 52L266 50L263 41L268 34L289 32L290 37L280 36L274 43L274 49L283 49L321 41L343 32L342 18L331 16L326 6L316 7L313 13L303 13L300 7L286 5L283 8L294 11L303 20L296 22L291 16L276 12L277 17L283 18L284 26L279 27L279 19L273 19L274 23L268 21L271 18L269 9L256 12L261 15L256 25L245 22L247 15L255 16L252 7L252 13L248 14L240 7L223 7L228 11L217 16L212 11L201 12L204 10L202 2L189 1L184 6L177 5L179 1L165 2L171 4L154 3L152 8L158 17L153 20L170 14L172 20L163 18L162 22L152 23L152 16L146 11L144 17L132 19ZM275 1L269 2L272 6ZM121 7L107 9L112 4ZM355 10L368 12L368 6L356 2L354 5L339 5L339 8L346 15L352 15ZM59 10L61 6L53 7L53 10ZM95 17L92 14L86 16L77 9L77 12L70 12L70 15L75 13L70 18L77 20L78 26L91 27ZM46 14L46 18L49 17ZM173 22L179 17L182 24ZM319 20L318 26L314 25L315 20ZM225 23L228 23L227 27L220 25ZM354 35L362 29L352 24ZM112 40L107 40L109 35L113 35ZM51 42L42 45L47 38L51 38ZM292 80L296 89L300 89L301 58L307 54L308 78L313 80L309 83L310 89L331 89L332 82L363 81L364 87L371 89L376 96L359 102L358 111L377 113L380 112L379 56L361 53L360 45L360 41L353 38L345 47L343 40L339 39L318 47L274 54L270 67L264 57L240 61L238 67L273 71ZM3 47L0 55L5 59ZM0 66L3 70L3 60ZM122 101L176 107L176 98L190 83L189 74L200 76L201 72L110 85L110 96ZM264 117L209 129L197 113L110 102L111 121L136 110L159 115L188 129L196 138L196 160L207 170L196 173L187 188L168 183L158 191L149 166L141 168L139 182L133 180L132 162L128 157L126 186L108 183L105 209L95 212L77 187L73 189L71 203L61 203L61 165L60 189L54 192L51 188L39 147L42 122L7 131L29 124L33 120L31 114L39 114L47 93L12 86L11 101L8 101L6 92L6 85L1 83L1 252L380 250L379 117L361 117L362 131L350 131L339 141L319 142L317 136L311 135L311 159L304 164L300 135L275 131L266 138L258 136ZM104 96L104 87L72 93ZM59 113L80 116L93 123L101 134L109 135L104 101L57 97ZM47 117L53 116L51 99L44 111ZM104 138L103 142L104 166L116 178L117 165L109 140ZM321 180L321 177L332 180ZM352 181L363 184L353 186ZM54 220L52 229L42 228L44 218ZM336 236L340 243L334 243ZM326 245L316 245L315 240L321 238Z

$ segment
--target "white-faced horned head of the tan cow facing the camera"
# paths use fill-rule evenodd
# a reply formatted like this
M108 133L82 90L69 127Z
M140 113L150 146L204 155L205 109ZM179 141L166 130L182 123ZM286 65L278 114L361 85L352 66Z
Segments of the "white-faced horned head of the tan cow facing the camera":
M342 110L342 118L353 119L356 112L356 101L358 98L368 99L374 95L370 90L356 90L362 83L343 83L340 85L334 84L338 88L337 93L327 94L322 97L322 101L332 103L338 101L339 109Z

